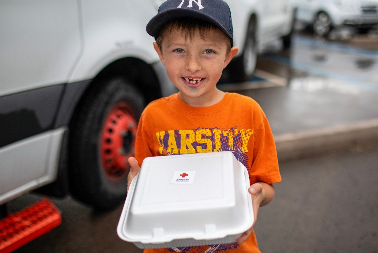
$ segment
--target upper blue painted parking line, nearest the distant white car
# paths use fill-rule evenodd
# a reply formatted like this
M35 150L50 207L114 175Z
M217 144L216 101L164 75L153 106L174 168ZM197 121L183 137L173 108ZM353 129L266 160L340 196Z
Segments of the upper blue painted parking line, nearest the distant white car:
M342 43L313 39L313 38L308 38L308 37L303 37L303 36L295 36L294 42L303 44L303 45L308 45L311 47L321 47L321 48L326 48L333 51L339 51L341 53L355 54L355 55L370 58L370 59L378 59L378 51L366 50L366 49L362 49L358 47L353 47L350 45L345 45Z

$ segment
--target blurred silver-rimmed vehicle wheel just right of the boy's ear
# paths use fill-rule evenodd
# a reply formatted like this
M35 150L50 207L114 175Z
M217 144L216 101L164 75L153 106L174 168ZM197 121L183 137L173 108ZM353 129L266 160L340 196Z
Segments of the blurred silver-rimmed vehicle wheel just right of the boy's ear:
M228 65L230 82L248 81L253 77L257 62L256 19L249 20L244 50L241 56L235 57Z

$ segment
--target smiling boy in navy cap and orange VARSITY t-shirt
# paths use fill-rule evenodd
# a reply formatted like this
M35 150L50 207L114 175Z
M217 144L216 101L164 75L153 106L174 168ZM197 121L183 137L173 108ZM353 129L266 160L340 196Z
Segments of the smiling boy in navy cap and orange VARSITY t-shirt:
M151 102L142 113L135 158L129 158L129 184L146 157L228 150L249 170L256 221L259 207L274 197L272 183L281 178L273 135L260 106L216 87L238 51L228 5L222 0L168 0L146 29L155 37L153 47L179 92ZM252 226L234 244L144 252L260 251Z

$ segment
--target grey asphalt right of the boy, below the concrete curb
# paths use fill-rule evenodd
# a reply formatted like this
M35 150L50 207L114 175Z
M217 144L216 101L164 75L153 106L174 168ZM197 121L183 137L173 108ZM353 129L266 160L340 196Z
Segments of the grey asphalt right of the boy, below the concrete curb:
M378 149L280 163L255 226L262 252L378 252Z

